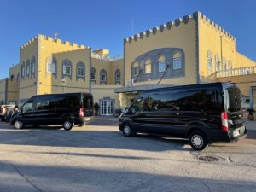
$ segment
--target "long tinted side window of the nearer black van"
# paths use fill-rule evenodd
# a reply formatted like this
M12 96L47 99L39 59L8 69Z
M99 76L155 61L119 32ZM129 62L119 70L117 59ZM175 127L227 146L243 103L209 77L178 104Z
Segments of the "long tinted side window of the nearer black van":
M173 90L148 96L147 111L206 111L216 109L215 90Z

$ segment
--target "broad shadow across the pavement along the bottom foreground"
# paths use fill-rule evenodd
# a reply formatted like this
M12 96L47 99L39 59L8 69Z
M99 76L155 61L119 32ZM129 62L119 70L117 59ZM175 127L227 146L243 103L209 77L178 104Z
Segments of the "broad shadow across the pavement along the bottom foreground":
M39 166L0 161L1 191L254 191L244 179L160 175L107 167ZM201 173L201 171L199 171ZM20 182L17 178L22 177Z

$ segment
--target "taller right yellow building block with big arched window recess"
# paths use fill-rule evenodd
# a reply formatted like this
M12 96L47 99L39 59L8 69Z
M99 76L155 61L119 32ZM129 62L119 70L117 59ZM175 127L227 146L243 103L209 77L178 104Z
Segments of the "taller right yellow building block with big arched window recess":
M236 38L200 12L125 38L124 50L125 87L115 90L124 107L148 88L216 82L237 68L255 68L255 61L236 51Z

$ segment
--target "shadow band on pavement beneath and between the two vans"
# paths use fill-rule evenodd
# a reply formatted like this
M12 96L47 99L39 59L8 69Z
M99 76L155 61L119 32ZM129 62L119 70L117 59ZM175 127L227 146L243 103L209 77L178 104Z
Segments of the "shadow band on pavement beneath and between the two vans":
M191 150L183 148L187 144L186 140L140 134L137 137L124 137L118 128L117 131L64 131L56 127L50 131L49 129L28 128L16 131L0 127L0 144L146 151Z

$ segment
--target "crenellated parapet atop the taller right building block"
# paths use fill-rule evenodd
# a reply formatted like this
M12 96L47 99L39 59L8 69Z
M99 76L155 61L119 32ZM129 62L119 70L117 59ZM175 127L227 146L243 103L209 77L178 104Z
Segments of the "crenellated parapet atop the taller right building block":
M236 38L232 36L229 32L226 32L222 27L218 26L212 20L210 20L206 15L201 14L201 12L196 11L192 15L184 15L182 18L178 18L173 21L169 21L166 24L161 24L160 26L155 26L152 29L148 29L144 32L139 32L138 34L132 35L131 37L124 38L124 44L131 43L133 41L137 41L137 39L148 38L151 35L156 35L159 32L165 32L168 30L172 30L174 27L180 27L182 24L187 25L191 20L197 21L202 20L206 22L209 26L212 26L212 29L218 30L220 35L229 38L231 41L236 41Z

